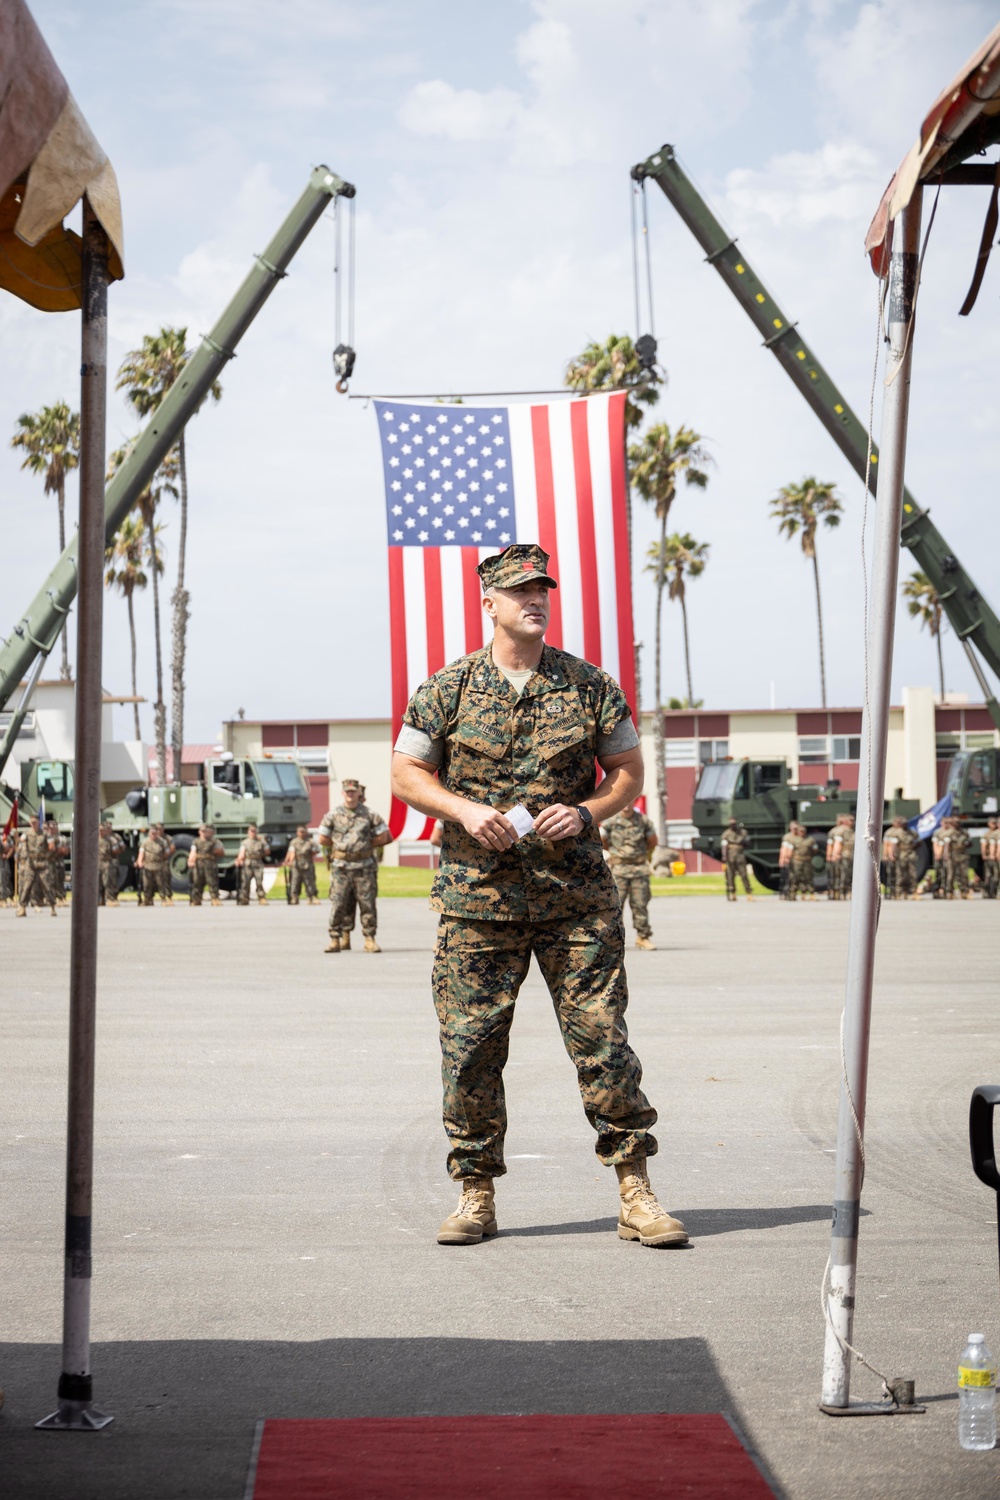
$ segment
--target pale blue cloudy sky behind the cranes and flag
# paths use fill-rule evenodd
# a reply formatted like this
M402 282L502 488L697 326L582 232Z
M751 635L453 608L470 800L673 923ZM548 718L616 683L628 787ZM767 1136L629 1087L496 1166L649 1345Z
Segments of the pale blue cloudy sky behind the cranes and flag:
M628 170L672 141L856 410L876 282L864 234L937 92L987 34L981 0L535 0L501 6L34 0L118 172L126 280L111 362L163 322L204 333L325 160L357 183L354 386L556 386L589 338L631 330ZM679 530L712 546L690 588L696 694L712 708L819 702L811 578L768 500L817 472L846 502L820 540L832 704L861 699L861 486L718 278L651 192L657 408L709 440ZM985 194L942 198L918 332L909 483L1000 608L991 464L997 276L958 320ZM333 226L324 220L189 429L189 740L222 718L388 712L384 516L375 417L334 394ZM4 298L0 438L22 410L76 399L78 326ZM109 444L135 430L117 396ZM75 494L72 496L75 502ZM168 586L177 518L165 512ZM0 632L55 556L54 504L0 447ZM651 536L639 510L636 555ZM909 568L904 554L903 570ZM36 574L39 574L36 578ZM24 598L19 596L24 594ZM153 690L141 600L139 692ZM652 658L652 590L637 574ZM676 609L667 693L682 693ZM105 682L127 692L124 604L108 600ZM975 684L946 638L948 687ZM894 693L934 681L903 618ZM651 672L645 672L646 704ZM124 720L123 726L124 729ZM144 710L144 732L151 712Z

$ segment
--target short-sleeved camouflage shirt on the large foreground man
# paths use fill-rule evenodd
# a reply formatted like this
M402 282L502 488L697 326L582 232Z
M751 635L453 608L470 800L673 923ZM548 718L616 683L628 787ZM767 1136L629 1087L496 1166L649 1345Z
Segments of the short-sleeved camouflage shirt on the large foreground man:
M589 662L546 645L519 698L484 646L418 687L403 726L442 747L448 790L501 812L523 802L534 816L594 794L598 736L628 718L618 682ZM405 735L397 747L406 752ZM615 910L618 894L597 828L558 843L529 834L498 850L447 822L430 906L474 921L537 922Z

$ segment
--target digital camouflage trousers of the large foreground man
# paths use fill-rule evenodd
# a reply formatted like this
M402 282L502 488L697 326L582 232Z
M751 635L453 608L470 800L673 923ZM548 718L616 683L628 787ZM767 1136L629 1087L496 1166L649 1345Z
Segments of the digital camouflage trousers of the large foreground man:
M504 1064L514 1002L532 954L577 1071L600 1161L610 1167L657 1152L649 1134L657 1112L642 1092L642 1065L625 1026L621 912L550 922L442 916L432 982L453 1178L499 1178L507 1172Z

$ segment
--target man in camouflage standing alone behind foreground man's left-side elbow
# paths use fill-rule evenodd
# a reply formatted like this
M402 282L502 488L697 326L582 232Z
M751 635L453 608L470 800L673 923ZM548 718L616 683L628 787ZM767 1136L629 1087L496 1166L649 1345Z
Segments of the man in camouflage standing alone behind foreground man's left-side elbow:
M319 824L319 843L330 850L330 942L324 952L346 952L351 946L355 904L361 910L364 951L381 952L378 932L378 860L375 850L393 842L388 824L361 801L361 783L340 783L342 807Z

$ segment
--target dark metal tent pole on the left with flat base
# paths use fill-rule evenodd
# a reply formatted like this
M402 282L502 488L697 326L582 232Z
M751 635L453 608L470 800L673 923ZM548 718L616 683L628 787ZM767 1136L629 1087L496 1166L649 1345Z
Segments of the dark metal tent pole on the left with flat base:
M37 1425L96 1431L90 1374L90 1215L93 1200L94 1022L97 999L97 830L100 825L100 646L108 405L108 240L84 198L79 380L79 604L73 892L69 950L66 1270L58 1407Z

